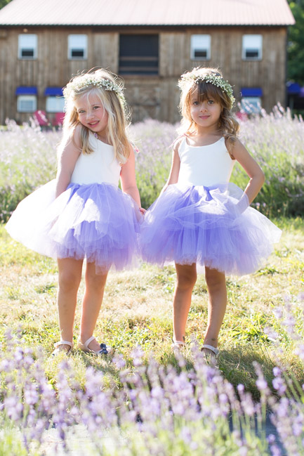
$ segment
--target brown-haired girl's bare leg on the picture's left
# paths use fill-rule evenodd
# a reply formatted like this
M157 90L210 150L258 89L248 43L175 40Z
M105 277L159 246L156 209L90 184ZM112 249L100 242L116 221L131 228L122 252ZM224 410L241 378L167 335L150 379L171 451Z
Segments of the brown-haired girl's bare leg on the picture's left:
M173 297L173 340L183 341L191 305L192 290L197 281L197 265L176 263L176 289Z

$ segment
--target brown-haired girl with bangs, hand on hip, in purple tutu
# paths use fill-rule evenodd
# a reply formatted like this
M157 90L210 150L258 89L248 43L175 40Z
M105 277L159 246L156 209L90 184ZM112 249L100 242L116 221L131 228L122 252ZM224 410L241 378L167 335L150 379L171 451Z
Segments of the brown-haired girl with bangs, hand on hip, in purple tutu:
M176 263L173 348L185 345L185 327L197 264L204 266L209 315L202 351L218 355L218 334L227 304L225 274L252 273L272 252L280 230L249 207L264 175L237 138L232 86L214 68L182 75L181 135L173 145L168 181L145 215L142 255L160 266ZM229 183L239 162L249 183Z

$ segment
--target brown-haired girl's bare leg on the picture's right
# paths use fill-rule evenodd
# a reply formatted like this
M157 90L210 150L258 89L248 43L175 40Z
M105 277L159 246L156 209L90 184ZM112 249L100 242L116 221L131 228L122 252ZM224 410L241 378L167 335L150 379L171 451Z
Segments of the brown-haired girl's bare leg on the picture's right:
M222 326L226 306L227 289L225 273L217 269L205 268L206 284L209 292L208 325L204 344L218 346L218 334Z

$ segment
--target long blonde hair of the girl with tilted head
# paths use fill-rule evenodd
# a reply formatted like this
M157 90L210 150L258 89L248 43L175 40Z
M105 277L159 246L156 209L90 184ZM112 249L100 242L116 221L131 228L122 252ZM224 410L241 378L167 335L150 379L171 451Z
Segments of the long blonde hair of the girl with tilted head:
M62 143L71 137L77 125L81 125L81 151L93 152L89 141L90 130L79 122L75 101L82 96L98 96L101 105L107 111L107 135L114 147L114 155L119 163L124 164L130 155L130 143L126 134L130 110L124 99L124 83L114 73L99 69L90 70L73 77L63 90L65 96L65 119L63 121Z

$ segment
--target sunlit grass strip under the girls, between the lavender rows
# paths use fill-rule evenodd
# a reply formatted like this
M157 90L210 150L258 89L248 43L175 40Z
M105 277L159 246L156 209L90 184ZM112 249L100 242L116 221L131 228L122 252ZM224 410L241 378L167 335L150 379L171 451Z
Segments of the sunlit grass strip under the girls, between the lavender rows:
M282 240L265 266L253 275L227 278L228 306L220 331L220 370L232 384L244 384L254 397L258 396L254 360L263 366L269 384L275 365L283 365L287 374L304 383L303 365L293 353L293 338L284 322L274 315L274 311L284 308L288 301L296 317L297 331L303 335L303 302L296 298L304 287L303 221L282 218L275 223L283 230ZM56 263L11 240L4 226L0 226L0 258L0 341L4 339L6 328L20 330L26 345L44 351L46 374L53 383L61 360L58 357L54 362L48 357L59 339ZM116 352L122 353L127 362L131 363L131 351L140 345L145 360L153 353L159 363L176 364L171 353L175 279L173 266L159 269L143 263L133 271L110 272L95 334L100 339L103 334L102 338L114 346ZM83 287L81 282L75 342ZM202 343L207 301L204 275L199 275L187 322L188 342L194 337ZM276 341L265 333L265 327L277 332ZM190 348L185 351L185 358L190 366ZM108 360L74 350L71 362L80 382L84 382L85 368L92 365L105 372L109 386L119 386L117 368Z

